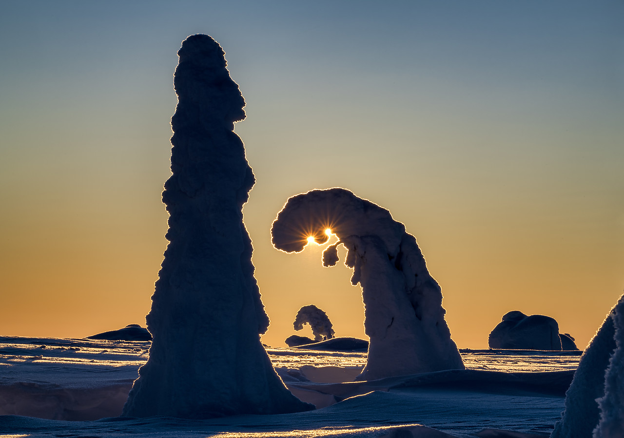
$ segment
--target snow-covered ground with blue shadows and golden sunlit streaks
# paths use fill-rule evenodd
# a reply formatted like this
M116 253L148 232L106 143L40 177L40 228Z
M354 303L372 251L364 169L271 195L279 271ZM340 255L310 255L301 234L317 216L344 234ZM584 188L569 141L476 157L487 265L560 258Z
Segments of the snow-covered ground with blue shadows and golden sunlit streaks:
M580 352L464 350L466 370L353 382L366 353L268 348L318 409L207 421L118 417L149 342L0 337L0 434L90 437L548 435ZM198 346L201 348L201 346ZM494 432L480 436L502 436Z

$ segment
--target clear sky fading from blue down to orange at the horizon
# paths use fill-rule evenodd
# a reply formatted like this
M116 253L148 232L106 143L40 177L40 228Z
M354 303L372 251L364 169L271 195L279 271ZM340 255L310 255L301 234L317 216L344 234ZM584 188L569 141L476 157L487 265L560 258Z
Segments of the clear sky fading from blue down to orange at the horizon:
M416 236L460 348L514 309L584 348L624 288L622 22L601 0L2 1L0 335L145 324L176 52L201 32L247 102L263 342L306 304L364 337L351 272L270 243L288 197L339 186Z

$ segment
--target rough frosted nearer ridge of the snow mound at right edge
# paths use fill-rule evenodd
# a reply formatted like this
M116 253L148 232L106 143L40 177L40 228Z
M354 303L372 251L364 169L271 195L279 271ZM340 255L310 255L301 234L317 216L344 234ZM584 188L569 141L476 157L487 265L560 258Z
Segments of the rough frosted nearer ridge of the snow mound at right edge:
M615 351L605 372L605 395L597 400L600 422L594 438L624 437L624 296L611 313L615 326Z

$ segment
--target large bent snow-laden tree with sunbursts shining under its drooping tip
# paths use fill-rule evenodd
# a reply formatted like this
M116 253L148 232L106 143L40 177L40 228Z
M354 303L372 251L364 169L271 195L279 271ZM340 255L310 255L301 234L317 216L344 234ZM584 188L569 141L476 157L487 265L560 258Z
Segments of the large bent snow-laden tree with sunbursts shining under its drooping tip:
M444 320L442 293L429 275L416 238L390 212L344 188L312 190L290 198L271 229L275 248L300 252L308 238L339 241L323 253L323 265L348 250L351 283L362 286L368 362L360 379L464 369Z

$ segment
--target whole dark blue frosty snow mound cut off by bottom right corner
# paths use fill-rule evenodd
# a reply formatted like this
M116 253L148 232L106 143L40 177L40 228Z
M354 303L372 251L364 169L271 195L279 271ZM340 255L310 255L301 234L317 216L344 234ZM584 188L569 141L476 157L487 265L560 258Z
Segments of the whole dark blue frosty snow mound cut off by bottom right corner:
M624 296L583 352L551 438L624 437Z

